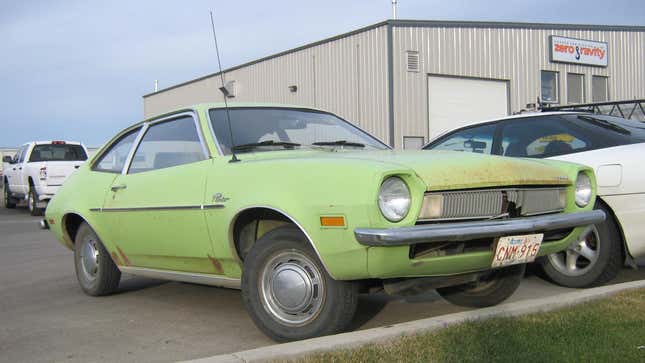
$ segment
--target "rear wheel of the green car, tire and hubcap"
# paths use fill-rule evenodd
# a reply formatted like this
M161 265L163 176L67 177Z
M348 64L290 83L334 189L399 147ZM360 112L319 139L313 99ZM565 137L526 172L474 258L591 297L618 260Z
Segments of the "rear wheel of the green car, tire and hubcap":
M86 246L90 244L92 247ZM96 269L93 276L87 265L84 265L83 256L96 253ZM114 264L110 254L96 233L87 223L81 224L74 241L74 267L76 279L83 291L91 296L102 296L113 293L119 286L121 271Z

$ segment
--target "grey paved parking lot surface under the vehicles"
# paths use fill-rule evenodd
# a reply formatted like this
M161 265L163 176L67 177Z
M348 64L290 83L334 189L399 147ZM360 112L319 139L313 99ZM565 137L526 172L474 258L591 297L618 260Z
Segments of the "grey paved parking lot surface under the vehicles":
M118 293L90 297L72 252L23 208L0 208L0 361L169 362L273 344L253 325L238 291L124 275ZM615 280L645 279L625 269ZM537 276L510 301L568 292ZM462 311L428 293L362 296L354 329Z

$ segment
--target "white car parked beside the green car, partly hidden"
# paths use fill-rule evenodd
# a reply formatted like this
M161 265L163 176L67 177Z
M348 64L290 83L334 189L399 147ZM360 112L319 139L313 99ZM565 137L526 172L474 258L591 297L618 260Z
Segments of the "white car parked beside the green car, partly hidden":
M549 158L594 168L596 209L605 222L568 250L542 259L546 275L568 287L603 284L645 256L645 123L579 112L521 114L444 133L424 149Z

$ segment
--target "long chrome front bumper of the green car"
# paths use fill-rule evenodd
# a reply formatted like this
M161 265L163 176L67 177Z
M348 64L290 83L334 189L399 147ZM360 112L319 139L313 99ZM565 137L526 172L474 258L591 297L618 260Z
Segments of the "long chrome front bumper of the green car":
M475 222L424 224L399 228L357 228L356 240L365 246L405 246L424 242L454 242L515 234L540 233L588 226L605 220L601 210L549 214L537 217Z

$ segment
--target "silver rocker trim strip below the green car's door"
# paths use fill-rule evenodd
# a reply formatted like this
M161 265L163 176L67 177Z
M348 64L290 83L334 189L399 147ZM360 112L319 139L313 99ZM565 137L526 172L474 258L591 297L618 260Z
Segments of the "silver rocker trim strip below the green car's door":
M226 287L229 289L240 289L241 280L226 276L203 274L196 272L183 272L172 270L157 270L144 267L119 266L121 272L136 276L149 277L160 280L171 280L189 282L193 284Z

